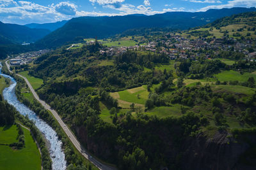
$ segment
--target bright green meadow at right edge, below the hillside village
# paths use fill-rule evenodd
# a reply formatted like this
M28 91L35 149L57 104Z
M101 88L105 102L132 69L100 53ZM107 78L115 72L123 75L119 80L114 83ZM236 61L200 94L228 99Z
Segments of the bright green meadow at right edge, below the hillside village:
M244 73L240 74L237 71L223 71L219 74L215 74L216 78L220 81L247 81L249 77L253 77L256 80L256 74Z

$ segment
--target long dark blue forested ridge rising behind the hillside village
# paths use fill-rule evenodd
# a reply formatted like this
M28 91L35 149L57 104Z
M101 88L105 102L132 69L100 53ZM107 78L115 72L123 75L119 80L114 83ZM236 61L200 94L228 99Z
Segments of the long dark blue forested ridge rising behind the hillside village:
M127 15L115 17L79 17L72 18L63 27L51 32L36 43L49 48L65 45L78 38L106 38L128 29L141 27L170 27L173 29L188 29L208 24L214 20L243 13L256 11L256 8L224 8L205 12L168 12L157 15Z

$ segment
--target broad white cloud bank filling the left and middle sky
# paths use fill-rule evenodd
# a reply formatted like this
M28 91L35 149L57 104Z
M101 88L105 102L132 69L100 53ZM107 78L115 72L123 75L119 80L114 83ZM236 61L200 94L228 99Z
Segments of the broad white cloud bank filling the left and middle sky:
M121 4L119 3L118 8L115 2L121 2L124 0L108 0L104 1L105 4L103 8L111 8L115 10L112 13L104 13L102 11L79 11L74 3L61 2L58 4L50 4L48 6L42 6L40 4L32 3L29 1L14 1L0 0L0 20L5 23L15 23L15 24L29 24L29 23L46 23L46 22L56 22L60 20L69 20L73 17L82 16L116 16L116 15L130 15L130 14L145 14L154 15L157 13L164 13L166 11L183 11L184 8L168 8L161 11L154 11L150 6L140 5L134 6L132 4ZM90 0L99 1L100 0ZM2 5L1 5L2 4ZM4 4L4 6L3 6ZM95 6L94 6L95 7Z

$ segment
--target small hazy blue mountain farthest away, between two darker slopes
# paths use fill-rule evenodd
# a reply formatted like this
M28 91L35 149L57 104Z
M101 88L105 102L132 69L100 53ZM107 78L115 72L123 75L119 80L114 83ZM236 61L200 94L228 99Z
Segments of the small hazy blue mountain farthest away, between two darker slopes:
M48 29L50 31L55 31L56 29L62 27L63 25L65 25L68 21L67 20L63 20L63 21L59 21L59 22L53 22L53 23L45 23L45 24L35 24L35 23L31 23L31 24L26 24L26 27L29 27L31 29Z

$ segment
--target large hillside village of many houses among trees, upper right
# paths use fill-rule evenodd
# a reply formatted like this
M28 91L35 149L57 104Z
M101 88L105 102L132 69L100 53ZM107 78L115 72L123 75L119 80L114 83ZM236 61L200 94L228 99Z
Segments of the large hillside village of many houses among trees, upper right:
M156 42L157 41L157 42ZM256 52L249 53L246 48L252 47L252 40L246 40L243 43L237 41L234 38L212 38L211 41L205 38L198 39L186 39L180 35L168 34L165 39L157 39L156 41L149 42L148 45L136 45L127 47L117 47L113 46L105 50L101 50L100 53L106 53L106 55L118 55L124 53L127 50L141 50L148 52L159 52L166 53L170 59L195 59L201 55L200 49L214 50L216 53L220 50L230 51L234 50L236 52L242 52L250 60L256 59ZM228 41L229 43L225 43ZM175 42L175 43L173 43ZM161 44L159 46L158 44ZM256 49L255 49L256 50ZM204 54L206 58L211 58L211 55Z

